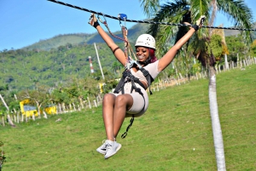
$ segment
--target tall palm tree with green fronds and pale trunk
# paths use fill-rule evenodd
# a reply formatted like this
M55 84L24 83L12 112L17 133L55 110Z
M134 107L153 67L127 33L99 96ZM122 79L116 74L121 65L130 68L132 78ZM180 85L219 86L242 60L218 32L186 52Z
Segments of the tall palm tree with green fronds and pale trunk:
M206 15L206 25L212 26L217 12L226 14L234 26L250 29L253 23L251 9L243 0L170 0L160 5L160 0L140 0L144 7L145 14L155 22L190 22L195 23L202 14ZM186 27L151 25L148 33L156 38L156 48L163 49L166 44L176 35L176 41L182 37ZM212 54L211 42L212 30L201 29L192 37L193 54L201 60L203 66L209 71L209 104L212 117L212 133L215 146L215 156L218 170L226 170L224 160L224 145L222 132L218 117L218 103L216 92L216 72L214 70L215 58ZM249 32L246 32L249 37ZM188 46L183 47L184 50ZM191 48L190 48L191 49Z

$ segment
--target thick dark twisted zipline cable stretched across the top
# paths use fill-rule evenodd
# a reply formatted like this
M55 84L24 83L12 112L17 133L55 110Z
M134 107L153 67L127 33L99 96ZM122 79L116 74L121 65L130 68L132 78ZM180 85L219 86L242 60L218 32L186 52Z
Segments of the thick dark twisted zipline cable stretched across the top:
M69 4L69 3L62 3L62 2L56 1L56 0L48 0L48 1L50 1L52 3L59 3L61 5L65 5L65 6L73 8L73 9L80 9L80 10L87 11L87 12L90 12L90 13L100 14L102 16L106 16L106 17L111 18L113 20L119 20L118 17L114 17L114 16L111 16L111 15L108 15L108 14L102 14L100 12L96 12L96 11L93 11L93 10L90 10L90 9L84 9L84 8L81 8L81 7L78 7L78 6ZM126 19L125 21L145 23L145 24L154 24L154 25L167 25L167 26L191 26L191 25L185 25L185 24L154 22L154 21L146 21L146 20L128 20L128 19ZM238 31L256 31L256 29L244 29L244 28L236 28L236 27L221 27L221 26L202 26L202 27L204 27L204 28L214 28L214 29L238 30Z

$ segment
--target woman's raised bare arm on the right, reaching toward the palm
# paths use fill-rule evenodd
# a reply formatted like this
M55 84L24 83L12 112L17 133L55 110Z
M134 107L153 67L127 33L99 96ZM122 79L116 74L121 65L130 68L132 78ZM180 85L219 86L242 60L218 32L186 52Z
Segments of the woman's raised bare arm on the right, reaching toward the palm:
M190 30L177 41L176 44L159 60L158 70L163 71L166 66L168 66L172 60L174 59L177 51L182 48L183 44L189 41L189 38L192 37L194 32L201 27L201 20L204 19L205 16L201 16L199 20L196 21L196 25L190 27Z

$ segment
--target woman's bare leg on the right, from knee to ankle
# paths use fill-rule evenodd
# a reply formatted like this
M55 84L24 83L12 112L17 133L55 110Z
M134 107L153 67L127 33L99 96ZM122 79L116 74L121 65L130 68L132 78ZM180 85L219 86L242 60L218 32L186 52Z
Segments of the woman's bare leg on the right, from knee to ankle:
M131 109L133 105L133 99L130 94L120 94L116 97L113 107L113 137L115 138L119 134L124 120L126 111Z

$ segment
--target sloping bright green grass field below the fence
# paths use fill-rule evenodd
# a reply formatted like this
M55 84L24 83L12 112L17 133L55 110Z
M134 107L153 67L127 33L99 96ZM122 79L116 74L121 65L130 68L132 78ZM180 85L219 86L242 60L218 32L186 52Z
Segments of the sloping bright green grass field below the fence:
M227 170L256 168L256 66L217 76L218 113ZM102 108L1 127L7 162L18 170L217 170L208 104L208 80L154 92L143 117L121 128L120 151L105 160ZM61 118L61 122L55 122Z

